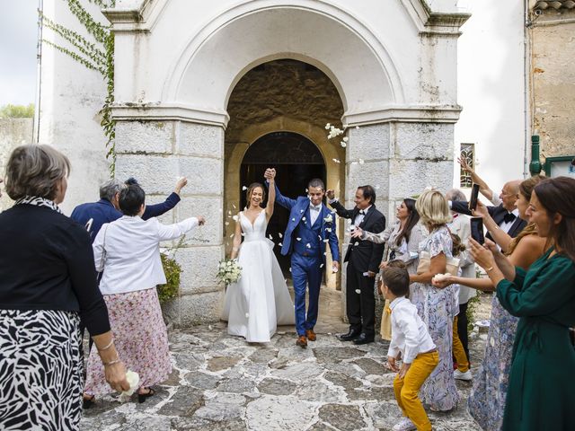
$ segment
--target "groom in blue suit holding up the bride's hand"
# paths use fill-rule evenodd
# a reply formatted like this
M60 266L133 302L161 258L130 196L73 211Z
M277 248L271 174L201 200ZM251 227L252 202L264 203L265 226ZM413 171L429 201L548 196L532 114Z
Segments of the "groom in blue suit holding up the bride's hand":
M264 176L269 180L275 169L267 169ZM266 181L266 184L268 181ZM299 347L307 347L307 340L315 341L320 285L325 266L325 243L330 243L332 270L340 269L340 250L335 232L335 217L322 203L325 186L322 180L314 179L307 185L308 196L296 199L286 198L276 183L276 202L288 208L289 221L281 254L291 254L291 275L296 294L296 330ZM305 313L305 286L309 289L309 306Z

